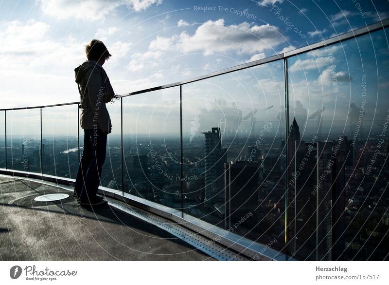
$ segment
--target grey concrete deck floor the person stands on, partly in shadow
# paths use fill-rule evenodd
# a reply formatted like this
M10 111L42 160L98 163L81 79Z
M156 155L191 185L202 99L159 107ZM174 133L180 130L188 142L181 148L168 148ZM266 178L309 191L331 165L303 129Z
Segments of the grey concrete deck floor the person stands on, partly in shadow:
M70 197L36 202L50 193ZM170 233L110 206L79 207L71 192L0 176L2 261L215 260Z

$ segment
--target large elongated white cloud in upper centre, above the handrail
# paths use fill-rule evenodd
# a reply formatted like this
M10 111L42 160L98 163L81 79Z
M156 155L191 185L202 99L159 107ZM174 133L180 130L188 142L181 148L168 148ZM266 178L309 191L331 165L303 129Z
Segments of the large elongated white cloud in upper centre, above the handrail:
M223 38L220 38L221 35ZM258 26L243 22L227 26L224 24L224 19L209 20L199 26L194 35L182 32L170 38L157 36L150 42L147 52L132 56L128 68L139 71L155 67L159 64L162 54L169 52L175 55L196 51L201 51L204 55L236 53L252 56L254 54L252 58L263 58L265 50L272 50L284 41L281 32L269 24Z

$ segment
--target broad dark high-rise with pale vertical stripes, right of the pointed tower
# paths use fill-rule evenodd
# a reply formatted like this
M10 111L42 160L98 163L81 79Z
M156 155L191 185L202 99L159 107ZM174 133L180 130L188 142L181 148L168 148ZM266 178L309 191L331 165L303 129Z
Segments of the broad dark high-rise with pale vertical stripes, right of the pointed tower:
M345 145L295 141L295 148L294 254L303 260L342 260Z

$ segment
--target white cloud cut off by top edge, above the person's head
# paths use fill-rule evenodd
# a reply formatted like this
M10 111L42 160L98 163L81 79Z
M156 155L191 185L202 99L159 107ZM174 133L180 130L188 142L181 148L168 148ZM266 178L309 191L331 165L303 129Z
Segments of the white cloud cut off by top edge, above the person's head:
M141 11L162 0L38 0L42 12L56 19L83 19L95 21L113 13L117 7L125 5L129 9Z

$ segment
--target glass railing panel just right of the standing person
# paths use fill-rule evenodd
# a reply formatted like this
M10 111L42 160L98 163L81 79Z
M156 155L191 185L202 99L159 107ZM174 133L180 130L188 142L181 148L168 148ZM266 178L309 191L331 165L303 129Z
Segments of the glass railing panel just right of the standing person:
M123 98L124 192L181 208L179 87Z

